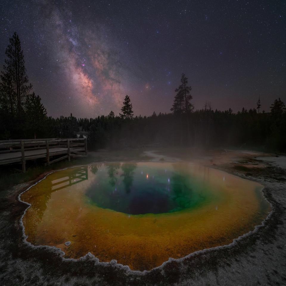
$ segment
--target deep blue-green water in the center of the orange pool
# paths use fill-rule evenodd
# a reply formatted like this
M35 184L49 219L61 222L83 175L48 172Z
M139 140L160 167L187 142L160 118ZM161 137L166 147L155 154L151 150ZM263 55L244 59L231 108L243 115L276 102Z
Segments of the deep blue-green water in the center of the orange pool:
M92 170L96 179L86 196L98 207L131 215L182 211L211 199L208 187L189 173L158 166L110 163L96 167Z

